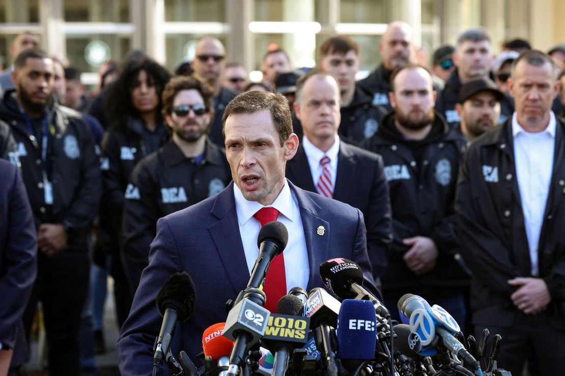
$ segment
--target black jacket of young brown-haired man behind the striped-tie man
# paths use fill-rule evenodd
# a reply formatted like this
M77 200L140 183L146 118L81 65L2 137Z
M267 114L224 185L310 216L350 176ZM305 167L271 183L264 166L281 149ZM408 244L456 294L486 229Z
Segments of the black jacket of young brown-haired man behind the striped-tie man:
M358 145L375 134L388 110L384 106L373 105L372 101L370 92L355 85L353 100L347 107L341 108L340 138Z

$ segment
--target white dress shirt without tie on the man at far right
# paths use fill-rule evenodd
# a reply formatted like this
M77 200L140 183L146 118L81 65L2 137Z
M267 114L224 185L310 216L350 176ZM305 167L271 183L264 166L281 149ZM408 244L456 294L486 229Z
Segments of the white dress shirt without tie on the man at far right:
M514 160L516 179L520 188L524 224L528 237L532 276L538 276L538 246L541 226L544 223L545 205L555 149L555 114L550 112L549 124L541 132L527 132L518 123L516 113L512 116L514 136Z

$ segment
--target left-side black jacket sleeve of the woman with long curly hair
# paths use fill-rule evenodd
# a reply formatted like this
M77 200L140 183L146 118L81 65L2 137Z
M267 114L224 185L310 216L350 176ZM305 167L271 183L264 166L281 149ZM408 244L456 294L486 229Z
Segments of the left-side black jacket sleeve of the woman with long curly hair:
M102 171L102 202L114 218L121 218L125 187L120 166L120 145L115 132L106 132L102 140L102 156L107 158L107 169ZM120 225L120 224L118 224Z

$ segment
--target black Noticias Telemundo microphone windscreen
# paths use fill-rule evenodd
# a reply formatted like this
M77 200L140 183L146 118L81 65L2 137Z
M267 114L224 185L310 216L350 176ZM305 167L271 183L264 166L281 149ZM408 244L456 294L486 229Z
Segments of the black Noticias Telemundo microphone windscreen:
M358 264L347 259L331 259L320 264L320 277L328 290L342 299L354 298L351 282L362 286L363 271Z

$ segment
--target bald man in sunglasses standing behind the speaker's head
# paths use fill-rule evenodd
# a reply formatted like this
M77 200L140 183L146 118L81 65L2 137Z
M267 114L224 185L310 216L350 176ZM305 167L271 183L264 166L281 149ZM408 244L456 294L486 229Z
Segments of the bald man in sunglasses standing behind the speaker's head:
M190 62L190 67L194 70L194 75L205 81L212 87L214 99L212 107L214 114L210 124L210 140L213 143L224 146L224 137L221 135L221 116L224 108L237 95L236 92L229 90L221 85L221 75L225 69L225 48L216 38L205 37L198 41L194 60Z

